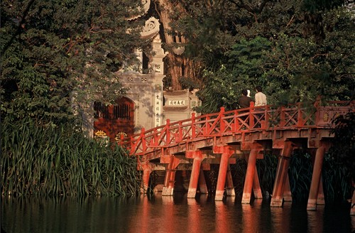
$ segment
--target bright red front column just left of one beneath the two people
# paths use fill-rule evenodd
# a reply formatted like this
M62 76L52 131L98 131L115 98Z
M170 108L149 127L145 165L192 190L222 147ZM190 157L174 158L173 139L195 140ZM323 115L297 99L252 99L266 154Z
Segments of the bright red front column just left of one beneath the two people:
M219 172L217 179L216 195L214 200L223 200L224 186L226 184L226 173L229 166L229 158L231 157L233 151L231 151L230 146L214 146L214 153L221 153L221 161L219 163Z

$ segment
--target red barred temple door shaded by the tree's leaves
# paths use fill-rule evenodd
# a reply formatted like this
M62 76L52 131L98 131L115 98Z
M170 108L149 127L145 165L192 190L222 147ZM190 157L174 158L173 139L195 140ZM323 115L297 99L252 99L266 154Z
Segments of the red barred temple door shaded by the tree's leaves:
M94 102L94 137L109 137L110 141L119 141L121 135L131 136L134 128L134 104L123 97L113 105L105 106Z

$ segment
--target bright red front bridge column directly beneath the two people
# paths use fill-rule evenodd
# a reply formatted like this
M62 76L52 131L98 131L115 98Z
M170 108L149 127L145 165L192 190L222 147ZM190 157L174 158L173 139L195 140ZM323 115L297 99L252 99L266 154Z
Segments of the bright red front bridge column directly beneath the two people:
M253 180L255 179L254 173L256 170L256 156L258 156L258 152L258 149L252 148L249 153L248 166L246 168L246 177L244 181L243 197L241 197L242 204L249 204L251 200Z

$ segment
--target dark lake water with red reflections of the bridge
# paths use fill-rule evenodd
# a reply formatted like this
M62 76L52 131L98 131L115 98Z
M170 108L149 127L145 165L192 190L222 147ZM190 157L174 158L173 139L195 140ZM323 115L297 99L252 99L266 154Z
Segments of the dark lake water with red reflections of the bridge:
M186 194L173 197L88 197L1 199L1 228L5 232L353 232L350 205L305 205L269 200ZM1 232L2 233L2 232Z

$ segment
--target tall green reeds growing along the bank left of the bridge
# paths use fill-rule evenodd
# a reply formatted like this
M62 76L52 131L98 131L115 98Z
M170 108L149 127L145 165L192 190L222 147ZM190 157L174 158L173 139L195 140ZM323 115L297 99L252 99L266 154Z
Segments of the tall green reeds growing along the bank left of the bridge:
M135 195L136 159L82 136L73 124L1 124L2 195Z

